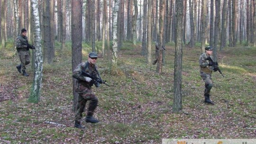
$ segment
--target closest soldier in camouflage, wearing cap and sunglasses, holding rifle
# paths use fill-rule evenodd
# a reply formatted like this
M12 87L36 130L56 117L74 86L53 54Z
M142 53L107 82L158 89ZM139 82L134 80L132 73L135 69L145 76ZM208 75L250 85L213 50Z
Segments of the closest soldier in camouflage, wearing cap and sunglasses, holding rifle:
M91 90L91 86L93 82L90 77L82 76L82 71L89 73L91 76L99 77L100 75L97 71L97 67L95 65L96 60L98 58L98 54L92 52L89 54L88 61L85 63L80 63L73 71L73 78L77 79L77 89L76 92L79 94L78 105L76 109L75 115L75 124L74 127L84 128L81 125L82 112L84 112L85 104L87 101L89 102L89 107L86 116L86 122L90 123L98 123L99 121L92 117L94 110L98 104L98 98ZM95 85L99 87L99 85Z

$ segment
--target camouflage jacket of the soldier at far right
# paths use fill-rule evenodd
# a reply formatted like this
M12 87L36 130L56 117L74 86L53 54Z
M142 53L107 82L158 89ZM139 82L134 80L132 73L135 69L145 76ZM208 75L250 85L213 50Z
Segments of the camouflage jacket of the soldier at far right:
M199 57L199 65L200 65L200 72L205 72L205 73L209 73L211 74L212 70L214 69L213 66L209 66L209 61L206 60L206 58L208 57L208 54L201 54ZM212 58L212 56L210 55L210 57Z

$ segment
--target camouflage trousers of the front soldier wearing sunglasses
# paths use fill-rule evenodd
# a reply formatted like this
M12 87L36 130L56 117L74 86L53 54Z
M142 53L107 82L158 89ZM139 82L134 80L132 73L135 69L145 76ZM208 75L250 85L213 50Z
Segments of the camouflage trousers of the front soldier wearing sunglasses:
M89 101L87 116L92 116L94 110L98 106L98 98L90 89L82 85L77 86L77 93L79 93L79 97L78 97L78 104L77 104L77 109L75 114L75 121L81 122L82 113L85 110L85 105L87 100Z

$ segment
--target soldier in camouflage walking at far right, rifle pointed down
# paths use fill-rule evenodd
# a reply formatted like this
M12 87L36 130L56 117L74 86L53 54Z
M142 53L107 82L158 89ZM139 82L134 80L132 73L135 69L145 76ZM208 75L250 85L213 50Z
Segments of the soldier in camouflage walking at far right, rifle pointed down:
M212 88L212 79L211 73L212 71L216 72L217 70L213 67L213 63L218 65L217 62L211 62L208 60L208 57L212 54L212 47L205 47L205 54L201 54L199 57L199 65L200 65L200 75L202 80L205 82L205 90L204 90L204 102L210 103L214 105L214 102L210 100L210 90Z

